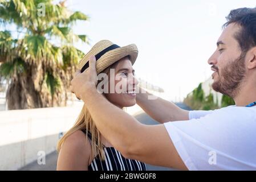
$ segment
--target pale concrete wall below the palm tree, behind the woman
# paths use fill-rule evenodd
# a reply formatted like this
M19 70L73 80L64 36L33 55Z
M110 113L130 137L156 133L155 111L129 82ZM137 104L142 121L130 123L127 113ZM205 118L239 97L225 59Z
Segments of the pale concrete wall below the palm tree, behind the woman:
M75 122L81 104L72 107L0 111L0 169L15 170L55 150L59 133Z

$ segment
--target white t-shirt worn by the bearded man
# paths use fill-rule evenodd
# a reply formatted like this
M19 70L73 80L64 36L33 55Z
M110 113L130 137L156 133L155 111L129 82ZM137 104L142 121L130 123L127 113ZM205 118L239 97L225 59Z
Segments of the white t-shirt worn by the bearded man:
M189 170L256 170L256 106L189 111L164 126Z

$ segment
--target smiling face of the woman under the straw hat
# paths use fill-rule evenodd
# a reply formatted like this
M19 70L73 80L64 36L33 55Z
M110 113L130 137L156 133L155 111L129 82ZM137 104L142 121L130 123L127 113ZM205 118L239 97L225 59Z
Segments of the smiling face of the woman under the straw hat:
M115 77L109 76L108 90L105 97L112 104L122 108L136 104L136 86L138 84L129 57L120 59L114 67ZM114 84L113 84L114 83ZM114 90L115 89L115 90ZM111 92L113 90L114 92Z

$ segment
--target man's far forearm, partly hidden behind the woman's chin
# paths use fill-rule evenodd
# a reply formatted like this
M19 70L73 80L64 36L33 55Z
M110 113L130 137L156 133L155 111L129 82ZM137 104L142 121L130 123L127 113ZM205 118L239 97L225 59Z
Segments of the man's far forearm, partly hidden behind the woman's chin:
M165 123L169 121L189 120L188 110L181 109L172 102L166 101L160 97L154 96L156 97L155 100L149 100L149 96L153 96L153 94L143 89L141 90L140 93L136 94L137 105L156 121Z

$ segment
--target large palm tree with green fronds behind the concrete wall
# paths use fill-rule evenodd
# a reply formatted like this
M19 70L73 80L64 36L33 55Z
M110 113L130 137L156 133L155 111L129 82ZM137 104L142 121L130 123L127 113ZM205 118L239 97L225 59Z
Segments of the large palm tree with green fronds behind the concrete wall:
M0 75L10 80L8 109L66 106L83 56L74 43L88 43L86 35L72 32L77 20L88 17L69 11L64 1L0 0Z

